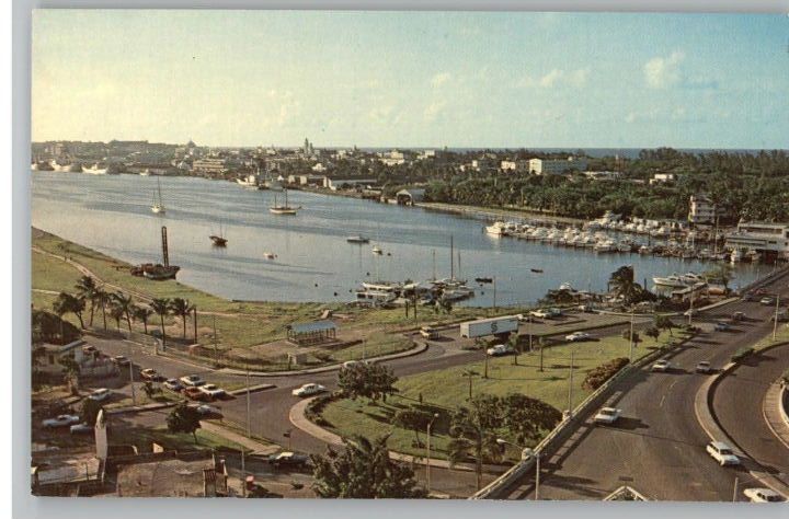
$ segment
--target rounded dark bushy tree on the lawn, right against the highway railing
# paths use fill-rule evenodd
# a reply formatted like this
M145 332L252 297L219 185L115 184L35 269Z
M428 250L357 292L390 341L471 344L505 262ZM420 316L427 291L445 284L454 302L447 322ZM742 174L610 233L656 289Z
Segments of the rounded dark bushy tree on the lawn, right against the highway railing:
M504 426L517 443L534 443L542 431L553 429L562 419L559 410L541 400L511 393L502 400Z

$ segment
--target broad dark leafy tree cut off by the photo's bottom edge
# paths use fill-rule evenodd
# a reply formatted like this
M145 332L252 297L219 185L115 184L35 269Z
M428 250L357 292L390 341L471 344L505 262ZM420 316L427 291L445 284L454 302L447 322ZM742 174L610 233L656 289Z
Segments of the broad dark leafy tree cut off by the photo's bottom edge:
M312 489L323 498L422 498L411 468L393 461L388 436L368 440L361 436L344 439L341 453L331 447L325 455L312 454Z

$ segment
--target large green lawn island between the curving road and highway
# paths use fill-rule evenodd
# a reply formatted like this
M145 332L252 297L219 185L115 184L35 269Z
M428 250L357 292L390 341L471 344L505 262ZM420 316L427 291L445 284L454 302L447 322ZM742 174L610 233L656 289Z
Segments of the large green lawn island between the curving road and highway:
M655 346L665 344L671 338L668 333L662 334L658 342L644 337L634 350L640 358L652 351ZM545 401L559 410L568 408L570 356L574 353L573 403L578 405L590 392L581 388L586 373L603 362L627 357L629 343L618 336L606 337L598 342L576 343L546 347L544 368L539 371L539 354L524 354L518 366L513 365L513 357L491 358L488 364L488 378L482 360L438 371L430 371L400 379L397 383L399 393L388 399L386 404L370 405L367 400L340 400L325 406L322 417L328 420L330 429L342 436L362 435L375 437L391 434L389 446L392 450L423 455L423 448L415 448L414 432L391 425L392 415L398 408L419 404L420 395L425 406L439 414L434 425L433 446L436 457L446 457L446 445L449 440L448 425L453 410L464 405L468 399L468 378L462 376L467 369L479 373L472 379L473 394L487 393L506 395L511 392L523 393ZM480 354L480 357L482 355ZM424 435L421 436L424 441Z

